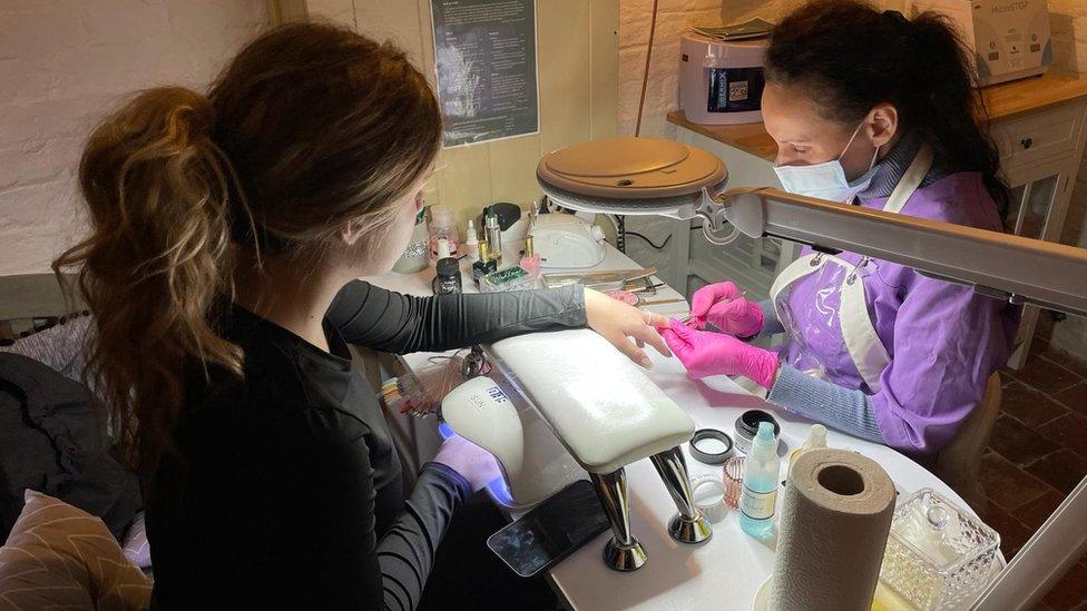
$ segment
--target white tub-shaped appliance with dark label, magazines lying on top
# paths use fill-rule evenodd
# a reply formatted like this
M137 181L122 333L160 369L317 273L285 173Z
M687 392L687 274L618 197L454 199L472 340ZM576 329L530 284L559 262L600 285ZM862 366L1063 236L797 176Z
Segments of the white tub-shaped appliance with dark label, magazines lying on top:
M763 120L763 57L768 41L716 40L685 32L679 56L679 106L696 124Z

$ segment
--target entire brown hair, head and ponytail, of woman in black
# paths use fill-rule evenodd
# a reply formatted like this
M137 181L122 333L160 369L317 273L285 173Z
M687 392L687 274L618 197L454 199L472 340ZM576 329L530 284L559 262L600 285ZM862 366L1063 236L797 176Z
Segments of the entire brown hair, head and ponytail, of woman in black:
M242 373L216 329L238 254L320 263L345 221L379 235L440 138L402 51L314 23L251 42L208 97L151 89L94 131L79 166L91 234L53 269L80 266L87 375L134 469L172 447L186 375Z

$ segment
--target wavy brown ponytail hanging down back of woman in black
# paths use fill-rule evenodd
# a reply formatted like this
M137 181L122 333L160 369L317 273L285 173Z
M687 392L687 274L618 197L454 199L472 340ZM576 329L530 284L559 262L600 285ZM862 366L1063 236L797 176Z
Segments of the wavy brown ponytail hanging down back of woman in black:
M241 371L238 348L207 317L233 265L213 124L207 98L176 87L145 91L101 124L79 164L92 234L53 262L58 274L82 264L79 289L97 325L88 375L128 451L137 423L167 440L179 405L164 398L180 396L187 356Z

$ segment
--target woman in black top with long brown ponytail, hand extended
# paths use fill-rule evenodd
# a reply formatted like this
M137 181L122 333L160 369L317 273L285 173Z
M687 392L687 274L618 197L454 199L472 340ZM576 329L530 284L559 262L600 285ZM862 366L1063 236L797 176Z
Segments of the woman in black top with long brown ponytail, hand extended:
M591 290L419 298L354 279L403 252L440 141L400 50L320 24L251 42L206 97L144 91L90 137L91 233L55 268L78 267L95 315L88 375L140 474L154 605L413 609L435 558L476 576L459 601L502 591L489 554L435 556L493 460L453 437L404 491L347 344L588 326L646 366L631 338L667 354L657 321Z

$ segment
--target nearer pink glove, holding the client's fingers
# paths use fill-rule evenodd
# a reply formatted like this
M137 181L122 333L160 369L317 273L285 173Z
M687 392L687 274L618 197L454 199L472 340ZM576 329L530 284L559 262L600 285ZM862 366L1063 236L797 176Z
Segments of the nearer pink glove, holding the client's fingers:
M711 375L742 375L770 388L777 375L777 355L765 348L745 344L732 335L693 329L673 319L662 328L672 353L679 358L687 375L695 380Z

